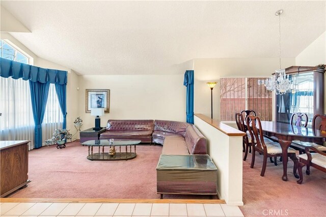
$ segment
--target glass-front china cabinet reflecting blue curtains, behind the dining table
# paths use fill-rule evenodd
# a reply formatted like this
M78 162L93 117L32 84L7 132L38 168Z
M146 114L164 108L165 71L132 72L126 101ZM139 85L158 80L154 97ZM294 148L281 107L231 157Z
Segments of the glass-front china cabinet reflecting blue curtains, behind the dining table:
M285 69L292 80L292 91L276 95L276 121L289 123L293 113L323 114L324 66L291 66Z

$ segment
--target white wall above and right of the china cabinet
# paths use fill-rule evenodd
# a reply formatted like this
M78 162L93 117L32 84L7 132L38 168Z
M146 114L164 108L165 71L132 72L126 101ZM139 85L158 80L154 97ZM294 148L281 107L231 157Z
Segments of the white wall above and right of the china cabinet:
M297 66L317 66L319 64L326 64L326 32L321 34L295 58L295 65ZM325 74L324 84L326 85ZM324 114L326 114L326 88L324 88Z

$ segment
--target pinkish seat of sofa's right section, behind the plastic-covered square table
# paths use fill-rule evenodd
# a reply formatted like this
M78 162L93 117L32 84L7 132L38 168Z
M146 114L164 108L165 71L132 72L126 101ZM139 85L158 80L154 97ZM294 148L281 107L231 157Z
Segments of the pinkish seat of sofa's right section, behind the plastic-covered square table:
M166 137L162 154L189 154L183 137Z

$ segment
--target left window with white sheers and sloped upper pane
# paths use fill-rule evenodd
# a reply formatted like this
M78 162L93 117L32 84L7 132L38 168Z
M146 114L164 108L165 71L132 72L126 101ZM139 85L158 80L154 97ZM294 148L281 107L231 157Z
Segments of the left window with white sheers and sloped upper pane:
M23 55L11 44L0 40L2 58L29 63L29 57ZM34 148L34 119L29 82L23 79L0 77L0 139L31 140L30 149ZM43 141L52 137L55 128L61 128L61 113L55 85L50 84L49 95L42 123Z

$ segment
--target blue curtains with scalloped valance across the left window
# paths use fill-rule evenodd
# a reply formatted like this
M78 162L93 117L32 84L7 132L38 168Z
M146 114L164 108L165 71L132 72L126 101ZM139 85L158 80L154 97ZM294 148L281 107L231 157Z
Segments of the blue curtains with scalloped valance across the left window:
M49 86L56 85L61 112L63 114L63 128L66 128L66 85L67 71L56 69L44 69L12 60L0 58L0 76L22 78L30 81L32 110L35 122L35 148L42 146L42 127Z

